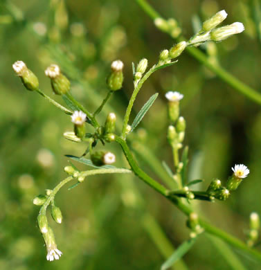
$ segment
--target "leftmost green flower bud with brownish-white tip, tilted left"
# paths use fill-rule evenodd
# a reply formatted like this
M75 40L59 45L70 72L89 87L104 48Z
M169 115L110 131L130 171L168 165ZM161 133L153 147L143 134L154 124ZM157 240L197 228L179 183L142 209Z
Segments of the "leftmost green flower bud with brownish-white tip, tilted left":
M21 82L24 87L30 91L37 90L39 87L39 81L35 74L27 68L23 61L17 61L12 65L15 73L21 78Z

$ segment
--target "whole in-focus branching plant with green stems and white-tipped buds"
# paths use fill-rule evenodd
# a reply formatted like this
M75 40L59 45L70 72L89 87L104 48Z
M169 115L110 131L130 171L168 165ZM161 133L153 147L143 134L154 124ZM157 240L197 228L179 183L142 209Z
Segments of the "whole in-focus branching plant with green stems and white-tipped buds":
M27 68L26 64L22 61L17 61L13 64L13 69L21 78L21 81L24 84L24 87L30 91L35 91L39 93L41 96L46 98L49 102L53 103L56 107L64 111L65 114L71 116L71 122L73 123L73 132L65 132L64 138L73 141L75 143L87 143L87 150L81 157L69 156L75 161L79 161L81 163L92 166L93 170L87 171L79 171L75 166L70 165L64 168L64 171L68 174L66 179L62 180L60 183L53 188L53 190L46 190L45 195L38 195L33 199L33 204L37 206L41 206L39 210L39 215L37 217L37 222L39 226L39 230L42 233L44 238L44 242L46 244L47 249L47 260L58 260L62 255L62 252L57 249L57 245L55 242L55 237L53 234L52 228L48 225L48 219L46 217L46 210L48 206L51 208L51 215L55 222L58 224L62 223L62 212L59 207L55 205L55 195L66 183L70 181L76 180L76 183L71 186L74 188L78 186L78 184L82 183L84 179L91 175L95 174L112 174L112 173L134 173L136 176L147 183L149 186L154 188L156 192L159 192L165 198L169 199L172 204L176 205L184 214L188 216L187 226L190 228L190 240L194 241L200 233L207 231L208 233L212 233L217 237L222 238L226 242L236 246L237 248L243 249L244 251L250 253L255 258L261 258L260 253L251 249L251 246L255 244L258 240L258 230L260 228L259 216L257 213L252 213L250 216L250 231L247 243L244 244L240 240L235 239L233 236L228 235L224 231L215 228L214 226L208 224L203 219L195 213L192 208L189 206L190 201L194 199L206 200L206 201L215 201L218 200L226 200L231 195L231 192L237 189L242 180L246 178L249 174L249 169L243 165L235 165L232 168L233 173L224 185L222 185L222 181L219 179L214 179L210 182L207 190L195 191L192 190L191 186L196 183L201 182L201 179L197 179L194 181L188 182L186 179L186 167L188 164L188 147L183 147L183 139L186 132L186 120L180 116L180 108L179 103L182 102L183 94L177 91L168 91L165 93L165 98L168 100L168 118L169 118L169 127L168 127L168 143L172 149L173 160L174 160L174 173L168 168L168 171L171 174L173 179L173 183L176 185L176 189L168 190L165 186L162 186L161 183L155 181L150 176L148 176L136 163L132 152L129 150L127 145L127 136L138 126L138 124L143 119L143 116L147 113L148 109L152 106L153 102L156 100L158 94L154 94L142 107L141 111L137 114L136 118L132 125L129 125L129 116L132 112L132 107L134 105L134 101L136 100L136 96L138 91L140 91L143 83L159 69L166 68L168 66L172 66L177 63L177 57L181 55L181 53L188 46L199 46L200 44L204 44L204 42L214 41L221 42L222 40L231 37L237 33L241 33L244 30L243 24L240 22L235 22L234 24L223 26L217 28L219 24L226 19L225 10L217 12L213 17L204 21L201 30L196 33L193 37L191 37L188 42L181 41L178 44L172 46L169 50L163 50L159 54L159 61L154 64L147 72L147 59L142 59L136 66L132 64L133 69L133 80L134 80L134 91L129 100L129 105L127 106L125 117L123 120L123 127L121 134L115 133L115 125L116 125L116 114L111 112L108 114L105 123L98 123L96 120L96 116L102 111L103 107L113 95L115 91L121 89L123 85L123 67L124 64L120 60L116 60L111 63L111 72L107 78L107 87L108 93L105 99L102 101L100 107L96 109L93 113L88 111L80 102L75 100L71 95L70 91L70 81L66 76L61 72L60 67L57 64L51 64L46 71L45 74L48 78L51 79L51 87L53 92L56 95L62 96L64 102L67 107L60 105L55 102L55 100L46 96L39 89L39 82L35 74ZM171 21L164 21L161 18L155 20L155 24L161 30L167 32L170 28ZM172 27L172 36L176 35L173 30L175 28ZM177 27L176 27L177 30ZM179 31L178 31L179 32ZM86 124L94 127L93 133L87 133ZM118 143L125 157L129 163L130 169L127 168L116 168L112 163L116 161L116 156L108 152L106 150L96 151L95 147L98 142L101 142L102 145L106 145L107 143L116 142ZM182 155L180 156L180 150L183 149ZM89 159L86 156L89 155ZM69 189L71 189L69 188ZM184 243L188 244L188 242ZM168 262L168 261L167 261Z

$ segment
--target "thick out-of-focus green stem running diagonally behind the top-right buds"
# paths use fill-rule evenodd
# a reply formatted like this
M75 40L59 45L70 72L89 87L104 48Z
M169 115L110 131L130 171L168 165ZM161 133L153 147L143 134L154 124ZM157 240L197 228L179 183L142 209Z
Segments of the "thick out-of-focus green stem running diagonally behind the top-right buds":
M147 3L146 0L136 0L139 6L143 8L143 10L149 15L153 20L156 18L161 18L161 15L159 15L152 6L150 6L149 3ZM183 40L183 37L179 38L179 41ZM215 74L219 76L224 82L229 84L231 87L233 87L235 90L242 93L244 96L249 98L250 100L253 100L254 102L261 105L261 94L258 93L255 89L249 87L248 85L244 84L244 82L241 82L237 78L235 78L233 75L228 73L225 69L223 69L221 66L218 66L215 63L212 63L208 61L208 57L202 53L198 48L195 47L187 47L188 53L195 57L199 62L204 64L205 66L210 69L210 71L213 71Z

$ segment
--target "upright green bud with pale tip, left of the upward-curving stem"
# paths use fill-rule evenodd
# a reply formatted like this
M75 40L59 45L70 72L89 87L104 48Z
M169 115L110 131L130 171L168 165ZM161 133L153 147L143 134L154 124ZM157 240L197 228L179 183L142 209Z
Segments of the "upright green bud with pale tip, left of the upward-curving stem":
M107 85L112 91L123 87L123 62L116 60L111 63L111 74L107 79Z

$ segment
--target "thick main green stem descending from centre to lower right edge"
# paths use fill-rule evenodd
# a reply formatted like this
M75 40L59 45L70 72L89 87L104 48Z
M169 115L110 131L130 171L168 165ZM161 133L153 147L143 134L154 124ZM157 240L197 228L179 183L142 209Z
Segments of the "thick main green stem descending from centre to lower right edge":
M172 204L176 205L179 210L181 210L184 214L190 215L190 213L193 212L192 208L187 206L186 204L183 204L181 199L178 197L168 196L169 191L161 186L158 182L156 182L154 179L149 177L141 168L138 167L138 164L134 160L132 153L129 151L129 147L127 146L127 143L120 137L116 136L116 142L120 144L120 146L123 148L123 152L127 158L127 161L129 162L129 165L131 166L132 170L134 171L134 174L136 174L140 179L145 181L149 186L154 188L157 192L161 193L164 197L169 199ZM249 246L246 246L244 242L241 240L238 240L237 238L233 237L232 235L229 235L228 233L220 230L219 228L216 228L215 226L212 226L211 224L208 224L208 222L205 222L203 219L199 220L201 226L205 229L207 233L210 233L211 235L215 235L228 244L231 244L232 246L235 246L237 249L242 249L246 253L249 253L252 255L255 259L259 260L261 262L261 253L256 251L255 249L251 249Z

